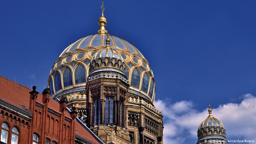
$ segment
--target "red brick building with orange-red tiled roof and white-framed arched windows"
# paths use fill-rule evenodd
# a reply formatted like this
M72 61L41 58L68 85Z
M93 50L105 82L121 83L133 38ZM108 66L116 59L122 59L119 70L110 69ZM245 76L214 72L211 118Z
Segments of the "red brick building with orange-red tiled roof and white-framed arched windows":
M67 109L67 99L50 98L0 76L0 144L101 144L77 117L76 108Z

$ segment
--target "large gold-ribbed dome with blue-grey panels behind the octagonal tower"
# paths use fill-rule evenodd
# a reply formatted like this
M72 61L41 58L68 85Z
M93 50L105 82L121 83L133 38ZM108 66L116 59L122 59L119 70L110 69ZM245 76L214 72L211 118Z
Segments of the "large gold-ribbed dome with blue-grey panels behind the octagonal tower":
M90 62L95 54L106 47L108 31L106 18L99 18L98 34L83 37L69 45L60 54L50 71L48 87L52 98L69 92L84 90L89 76ZM109 35L109 46L121 55L125 62L125 76L130 85L129 92L150 102L155 98L155 81L152 69L142 53L131 43L114 35Z

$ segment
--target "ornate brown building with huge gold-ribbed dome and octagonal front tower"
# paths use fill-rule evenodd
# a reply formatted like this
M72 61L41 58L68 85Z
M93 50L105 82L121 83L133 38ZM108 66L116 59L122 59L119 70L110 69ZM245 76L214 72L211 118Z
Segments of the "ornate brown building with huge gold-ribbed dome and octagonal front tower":
M54 62L51 97L67 97L68 107L76 106L78 117L105 143L161 144L152 69L135 46L108 35L103 11L102 4L98 34L72 43Z

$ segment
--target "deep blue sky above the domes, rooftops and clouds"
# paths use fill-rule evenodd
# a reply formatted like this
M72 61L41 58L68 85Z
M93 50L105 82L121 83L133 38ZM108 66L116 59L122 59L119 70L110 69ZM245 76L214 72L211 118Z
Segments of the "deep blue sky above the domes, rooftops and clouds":
M56 58L96 34L99 0L0 1L0 75L42 92ZM256 1L105 1L109 34L150 63L156 100L197 110L256 95Z

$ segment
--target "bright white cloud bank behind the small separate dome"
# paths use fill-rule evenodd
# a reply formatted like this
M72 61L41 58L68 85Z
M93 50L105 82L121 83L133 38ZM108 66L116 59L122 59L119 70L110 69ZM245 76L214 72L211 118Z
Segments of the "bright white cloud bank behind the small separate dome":
M212 115L224 124L227 139L245 138L256 140L256 97L245 94L241 103L227 103L212 109ZM173 104L157 100L155 106L164 116L163 140L165 144L191 143L186 139L197 140L197 129L208 116L208 107L197 111L193 102L180 101Z

